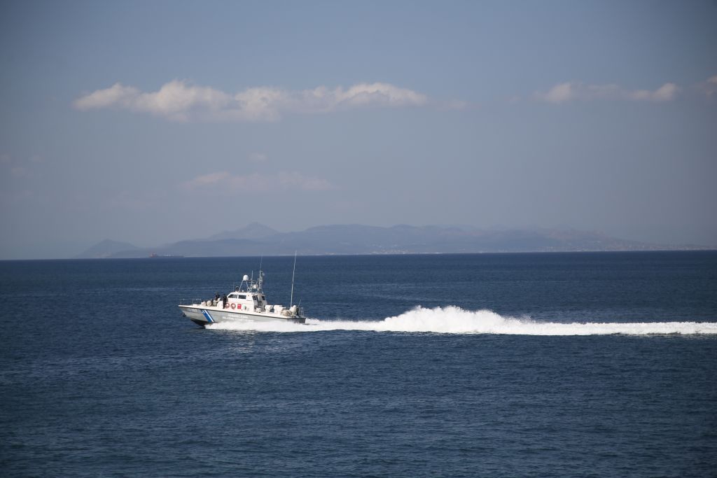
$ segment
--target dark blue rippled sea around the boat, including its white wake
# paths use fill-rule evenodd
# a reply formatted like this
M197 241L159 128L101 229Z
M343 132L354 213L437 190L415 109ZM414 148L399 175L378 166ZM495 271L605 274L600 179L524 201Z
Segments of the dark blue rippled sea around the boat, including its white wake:
M717 477L717 252L293 268L0 262L0 476ZM181 315L260 269L305 325Z

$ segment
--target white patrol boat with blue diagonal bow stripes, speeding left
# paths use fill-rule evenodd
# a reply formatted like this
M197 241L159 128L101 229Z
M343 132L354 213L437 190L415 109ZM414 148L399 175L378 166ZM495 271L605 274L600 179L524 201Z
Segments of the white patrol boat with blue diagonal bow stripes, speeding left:
M253 274L252 274L253 275ZM293 281L292 281L293 282ZM253 279L244 275L242 283L234 291L222 297L217 294L214 299L199 301L189 305L180 304L184 317L197 325L204 327L215 322L270 322L288 321L303 324L306 317L298 305L293 304L294 285L291 285L291 304L270 305L267 302L262 285L264 272L259 271L259 277Z

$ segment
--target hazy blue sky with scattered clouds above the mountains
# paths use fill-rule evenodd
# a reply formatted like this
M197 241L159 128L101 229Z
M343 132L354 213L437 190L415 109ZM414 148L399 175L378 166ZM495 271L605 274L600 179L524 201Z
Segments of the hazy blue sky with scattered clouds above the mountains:
M717 247L716 1L4 1L0 259L252 222Z

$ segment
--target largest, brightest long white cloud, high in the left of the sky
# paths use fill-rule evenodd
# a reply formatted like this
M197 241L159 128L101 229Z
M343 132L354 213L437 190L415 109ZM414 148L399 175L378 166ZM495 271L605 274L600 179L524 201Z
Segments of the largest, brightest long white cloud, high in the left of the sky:
M271 121L285 113L330 113L356 107L424 106L426 95L389 83L360 83L347 90L317 87L313 90L283 90L252 87L233 95L212 87L174 80L156 92L141 92L116 83L84 95L74 102L78 110L115 108L151 113L170 120Z

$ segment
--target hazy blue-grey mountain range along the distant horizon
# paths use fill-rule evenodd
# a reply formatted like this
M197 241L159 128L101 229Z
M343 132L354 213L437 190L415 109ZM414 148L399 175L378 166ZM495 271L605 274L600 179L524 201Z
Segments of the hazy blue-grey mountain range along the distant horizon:
M467 226L362 226L336 224L279 232L259 223L206 239L136 247L105 239L77 258L229 257L300 254L430 254L478 252L576 252L700 249L615 239L573 229L482 230Z

